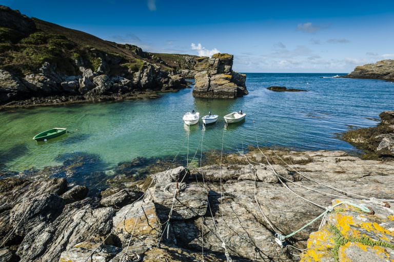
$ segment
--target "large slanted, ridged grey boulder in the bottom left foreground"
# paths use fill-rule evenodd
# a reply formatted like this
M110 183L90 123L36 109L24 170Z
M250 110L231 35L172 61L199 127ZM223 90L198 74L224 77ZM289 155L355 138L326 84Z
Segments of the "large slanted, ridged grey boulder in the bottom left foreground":
M66 205L52 223L36 225L28 232L16 254L21 262L58 261L63 251L77 243L109 234L113 215L113 209L101 208L97 198Z

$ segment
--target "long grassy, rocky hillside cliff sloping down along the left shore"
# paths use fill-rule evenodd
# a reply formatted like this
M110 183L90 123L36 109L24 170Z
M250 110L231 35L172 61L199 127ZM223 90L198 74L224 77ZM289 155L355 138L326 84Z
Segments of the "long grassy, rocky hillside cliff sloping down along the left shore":
M101 100L176 90L187 86L194 57L147 53L0 6L0 105L32 97L53 96L44 103L56 103L58 97Z

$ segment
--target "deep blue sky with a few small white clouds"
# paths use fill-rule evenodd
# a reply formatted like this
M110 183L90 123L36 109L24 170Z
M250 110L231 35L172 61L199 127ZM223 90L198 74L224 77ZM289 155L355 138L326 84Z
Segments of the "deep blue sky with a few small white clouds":
M394 1L0 0L144 51L234 55L239 72L350 72L394 59Z

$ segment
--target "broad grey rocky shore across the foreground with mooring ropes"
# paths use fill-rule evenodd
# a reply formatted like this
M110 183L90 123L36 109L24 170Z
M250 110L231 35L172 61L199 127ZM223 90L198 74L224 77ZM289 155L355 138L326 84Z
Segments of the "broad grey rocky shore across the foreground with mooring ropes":
M390 256L394 210L375 198L394 195L392 162L271 149L225 155L222 167L212 161L151 174L145 186L128 182L102 196L86 197L86 188L65 178L0 179L0 260L117 262L127 254L131 261L298 261L300 252L280 247L275 231L290 234L342 198L374 213L339 206L320 231L317 220L287 244L307 248L304 261ZM335 242L337 236L347 240ZM360 246L356 238L368 241Z

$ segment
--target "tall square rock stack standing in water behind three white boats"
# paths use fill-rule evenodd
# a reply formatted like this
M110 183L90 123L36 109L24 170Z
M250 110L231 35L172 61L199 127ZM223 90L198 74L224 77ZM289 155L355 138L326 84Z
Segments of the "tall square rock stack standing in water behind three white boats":
M214 54L196 59L193 95L209 98L235 98L248 94L246 75L232 71L233 55Z

